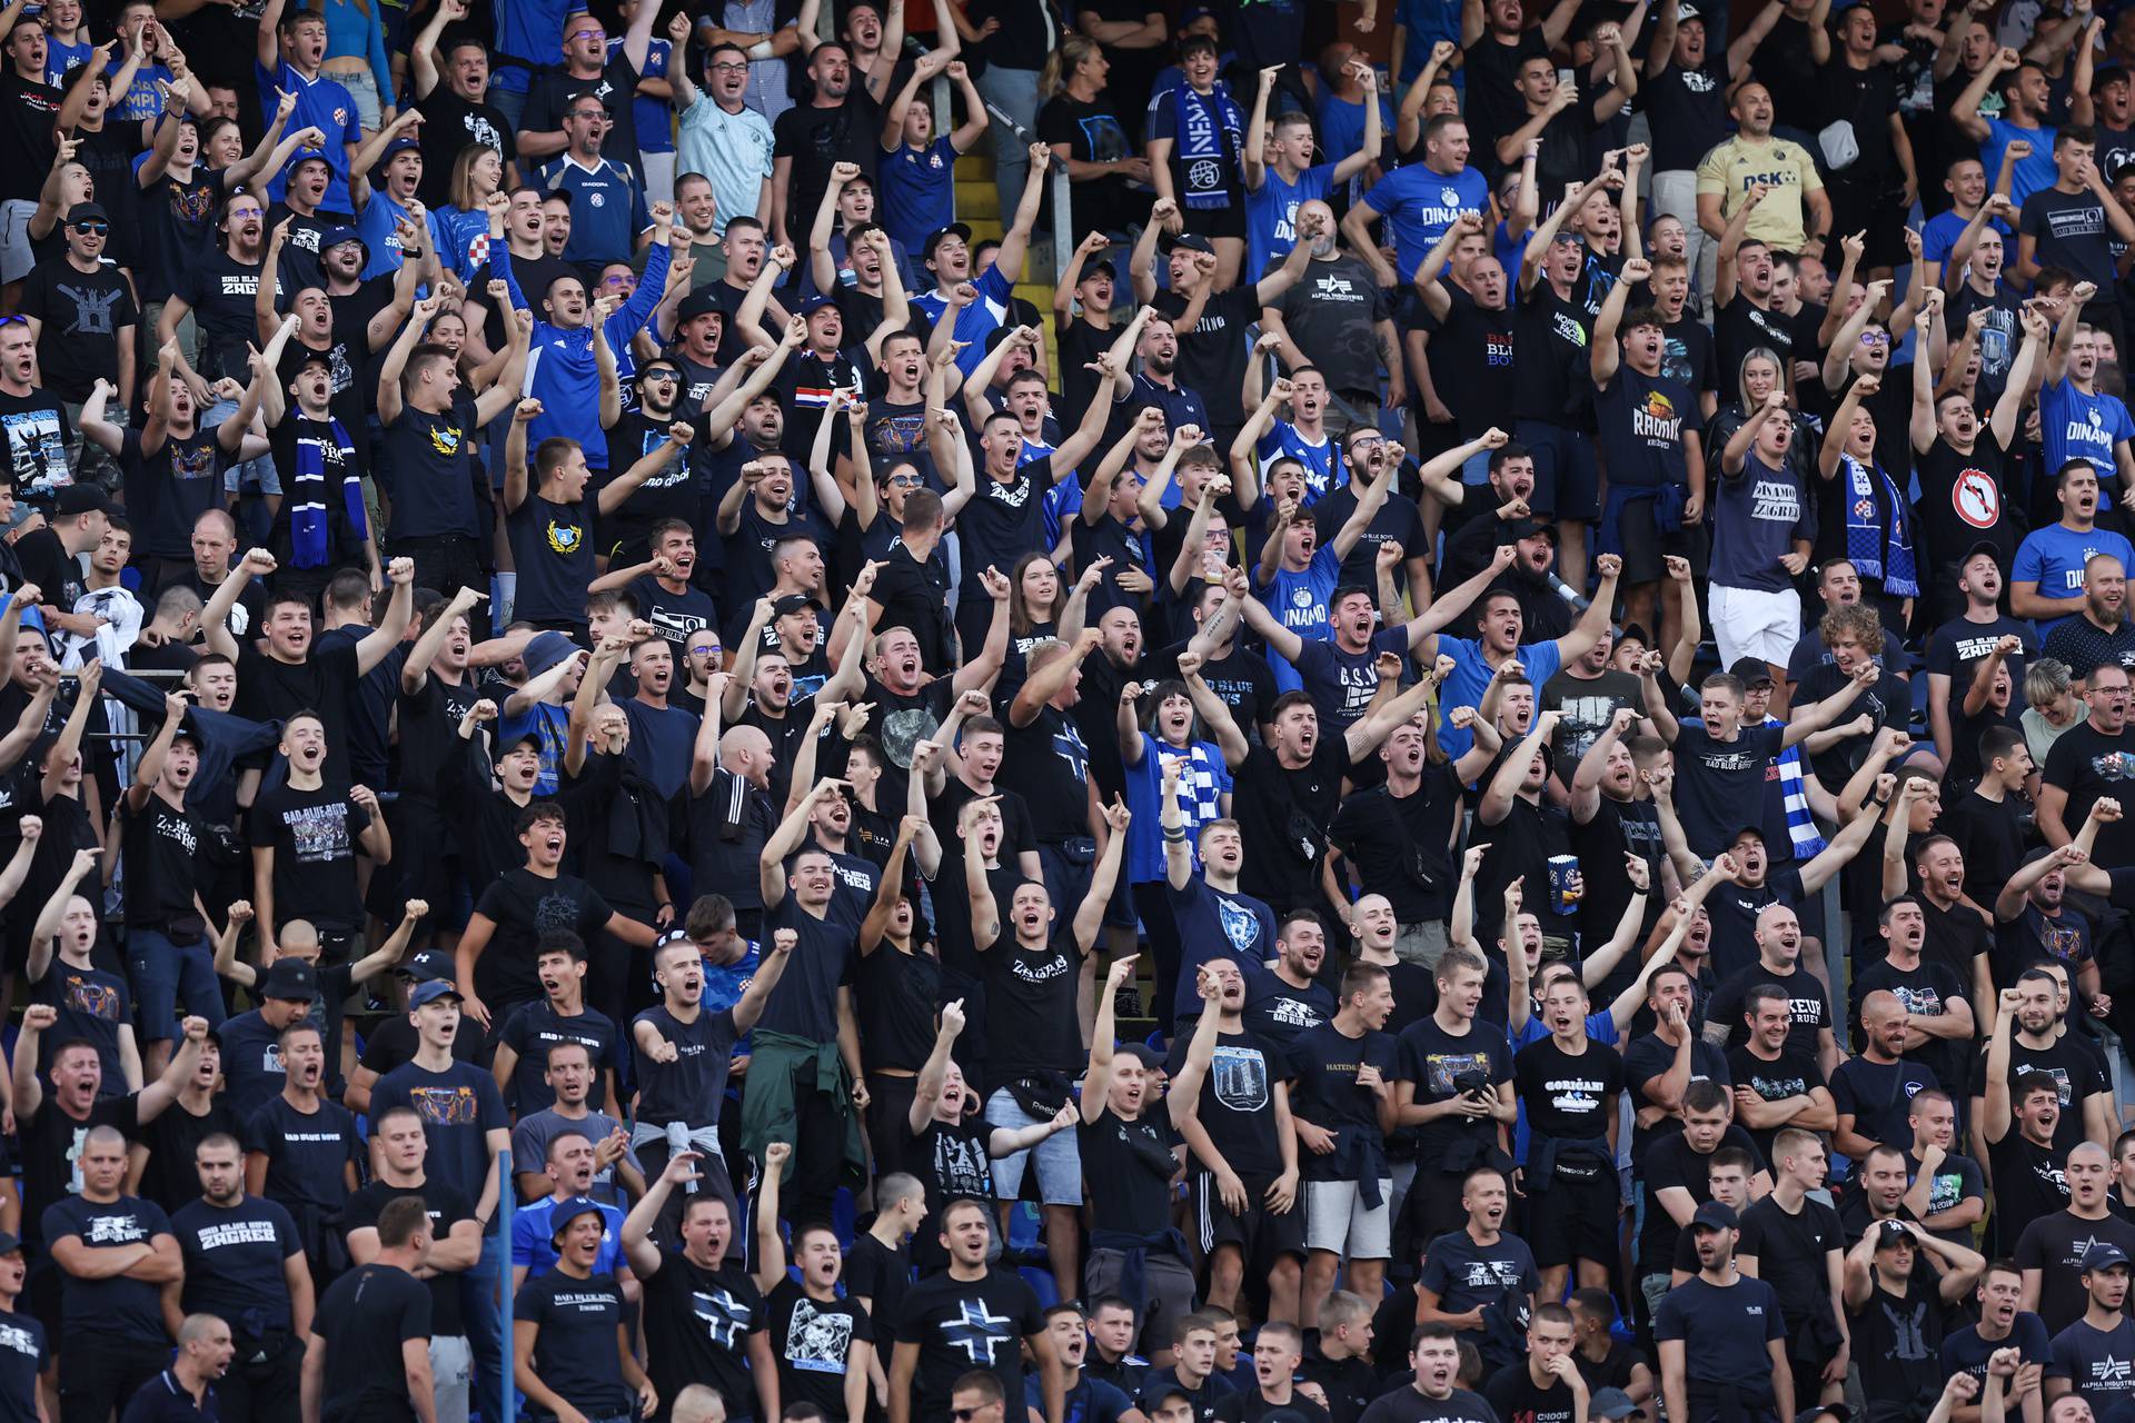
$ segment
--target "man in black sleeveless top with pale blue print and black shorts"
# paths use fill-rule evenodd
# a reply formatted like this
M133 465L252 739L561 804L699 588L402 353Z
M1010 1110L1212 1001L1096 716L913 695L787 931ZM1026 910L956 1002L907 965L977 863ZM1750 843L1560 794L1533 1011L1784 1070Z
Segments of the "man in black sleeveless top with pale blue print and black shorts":
M1268 1280L1268 1318L1294 1325L1304 1216L1296 1210L1290 1071L1281 1048L1245 1028L1245 977L1236 960L1208 960L1200 994L1206 1007L1191 1041L1172 1043L1166 1101L1196 1165L1191 1188L1196 1220L1206 1222L1198 1248L1208 1259L1208 1304L1236 1308L1251 1265Z

